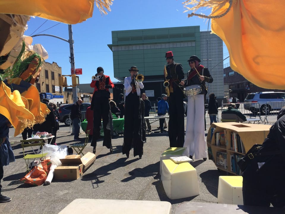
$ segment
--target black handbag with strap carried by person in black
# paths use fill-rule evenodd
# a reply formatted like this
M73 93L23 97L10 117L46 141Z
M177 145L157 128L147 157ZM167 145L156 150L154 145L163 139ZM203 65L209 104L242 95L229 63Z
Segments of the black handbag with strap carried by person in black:
M277 155L281 154L281 151L275 150L275 151L262 151L260 152L260 149L262 148L262 144L254 144L250 150L246 153L246 155L238 161L238 166L240 167L241 171L245 171L248 164L250 164L252 161L254 161L254 158L257 156L268 156L268 155Z

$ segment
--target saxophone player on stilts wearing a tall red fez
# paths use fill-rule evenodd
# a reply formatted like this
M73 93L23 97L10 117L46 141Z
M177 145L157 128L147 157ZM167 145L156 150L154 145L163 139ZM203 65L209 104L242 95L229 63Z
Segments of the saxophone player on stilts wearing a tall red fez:
M165 54L166 80L169 80L169 122L168 136L170 147L183 147L184 144L184 93L181 88L181 80L184 78L182 64L173 60L172 51Z

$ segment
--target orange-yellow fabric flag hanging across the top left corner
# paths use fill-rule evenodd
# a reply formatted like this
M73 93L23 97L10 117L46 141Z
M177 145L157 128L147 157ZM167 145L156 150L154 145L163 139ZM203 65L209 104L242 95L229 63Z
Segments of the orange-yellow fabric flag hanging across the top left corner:
M1 0L0 13L39 16L67 24L92 17L94 0Z

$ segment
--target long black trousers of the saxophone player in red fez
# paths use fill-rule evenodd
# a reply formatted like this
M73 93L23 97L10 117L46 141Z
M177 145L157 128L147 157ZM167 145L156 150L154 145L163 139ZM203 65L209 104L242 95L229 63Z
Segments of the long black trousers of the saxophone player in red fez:
M183 92L173 92L169 96L168 136L170 147L183 147L184 144L184 104ZM163 126L162 126L163 127Z

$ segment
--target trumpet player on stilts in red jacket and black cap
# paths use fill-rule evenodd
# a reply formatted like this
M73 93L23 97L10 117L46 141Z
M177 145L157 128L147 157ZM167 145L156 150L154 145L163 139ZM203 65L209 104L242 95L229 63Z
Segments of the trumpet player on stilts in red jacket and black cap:
M114 87L109 76L104 75L104 69L102 67L97 68L97 78L92 78L90 86L94 88L92 100L91 100L91 110L93 110L93 137L91 141L91 146L93 146L93 153L96 153L97 139L100 136L100 126L101 119L103 120L104 129L104 139L103 146L110 149L113 153L112 141L111 141L111 130L110 130L110 92L109 89ZM98 77L100 78L98 79Z

